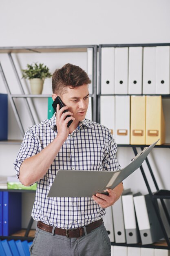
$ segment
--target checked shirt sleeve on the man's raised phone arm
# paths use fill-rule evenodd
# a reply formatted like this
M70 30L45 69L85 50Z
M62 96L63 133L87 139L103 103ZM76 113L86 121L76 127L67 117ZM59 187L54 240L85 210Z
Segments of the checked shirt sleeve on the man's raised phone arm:
M22 162L33 155L36 155L39 153L39 147L38 147L38 138L33 134L32 130L27 129L24 139L22 141L20 150L18 152L18 156L16 161L14 162L14 168L16 170L16 176L19 179L20 175L20 166Z

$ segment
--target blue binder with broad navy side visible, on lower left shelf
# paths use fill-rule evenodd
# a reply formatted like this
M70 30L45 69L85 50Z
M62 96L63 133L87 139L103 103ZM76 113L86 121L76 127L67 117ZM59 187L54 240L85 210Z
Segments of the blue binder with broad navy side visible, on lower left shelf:
M3 191L3 236L21 229L21 193Z

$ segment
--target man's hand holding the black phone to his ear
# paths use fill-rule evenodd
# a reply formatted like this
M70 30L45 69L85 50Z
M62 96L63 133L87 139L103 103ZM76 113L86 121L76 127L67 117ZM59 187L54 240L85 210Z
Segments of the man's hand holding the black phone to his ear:
M73 113L70 111L64 112L64 110L68 110L68 106L64 106L60 109L60 105L57 104L56 109L56 126L57 126L57 137L60 137L60 139L63 139L63 141L66 140L68 137L69 131L67 124L70 120L75 120L73 117ZM63 113L64 112L64 113ZM71 117L67 117L70 115Z

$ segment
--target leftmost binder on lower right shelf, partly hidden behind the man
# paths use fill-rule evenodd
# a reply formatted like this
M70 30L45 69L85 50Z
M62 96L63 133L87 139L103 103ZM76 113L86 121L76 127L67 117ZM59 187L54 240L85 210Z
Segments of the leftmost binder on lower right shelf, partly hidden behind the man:
M114 231L113 231L113 215L112 215L112 207L107 207L105 209L106 215L103 217L104 226L108 232L108 237L110 238L110 242L115 242Z

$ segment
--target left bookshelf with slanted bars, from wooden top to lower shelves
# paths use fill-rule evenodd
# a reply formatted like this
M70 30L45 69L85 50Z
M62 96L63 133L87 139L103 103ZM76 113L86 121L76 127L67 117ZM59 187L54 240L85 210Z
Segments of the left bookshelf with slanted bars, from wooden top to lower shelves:
M23 122L22 122L22 118L20 117L20 114L18 112L15 100L17 101L18 99L23 99L24 100L24 104L26 105L27 111L28 111L28 115L32 121L33 124L36 124L37 122L35 121L33 112L31 110L31 101L29 101L29 99L47 99L49 97L51 97L51 94L25 94L24 92L24 88L22 86L21 83L21 79L20 76L18 74L18 70L16 67L16 63L13 59L13 54L34 54L34 53L86 53L88 54L88 49L92 49L92 57L91 57L91 61L92 63L90 64L92 66L92 90L90 93L90 97L92 99L92 118L94 121L96 121L97 119L97 45L71 45L71 46L34 46L34 47L0 47L0 54L7 54L10 65L12 67L13 73L15 74L18 86L20 88L20 93L19 94L12 94L11 93L11 89L9 86L9 83L7 81L7 76L5 73L5 70L3 69L2 64L0 63L0 75L2 76L2 80L4 82L7 94L8 94L8 98L9 98L9 102L11 104L13 113L15 115L15 119L18 123L19 129L20 129L20 133L22 135L22 137L24 137L24 126L23 126ZM36 111L35 111L36 113ZM22 140L19 139L10 139L7 141L0 141L0 144L4 144L4 145L21 145ZM0 191L9 191L9 192L13 192L13 193L18 193L18 192L22 192L22 193L35 193L35 191L29 191L29 190L6 190L6 189L0 189ZM18 232L16 232L15 234L11 234L10 236L0 236L0 239L7 239L7 240L28 240L31 241L34 238L35 235L35 230L32 230L33 224L33 218L31 217L29 220L29 224L27 226L26 229L22 229Z

